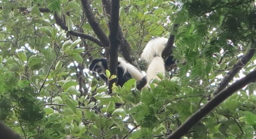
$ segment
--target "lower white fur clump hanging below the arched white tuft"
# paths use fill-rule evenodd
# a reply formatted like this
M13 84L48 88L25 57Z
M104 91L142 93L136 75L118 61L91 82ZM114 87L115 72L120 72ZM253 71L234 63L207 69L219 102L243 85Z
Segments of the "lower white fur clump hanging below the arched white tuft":
M165 75L165 62L162 57L155 57L151 61L147 70L147 87L150 87L149 82L151 79L160 79L157 74L163 73Z

